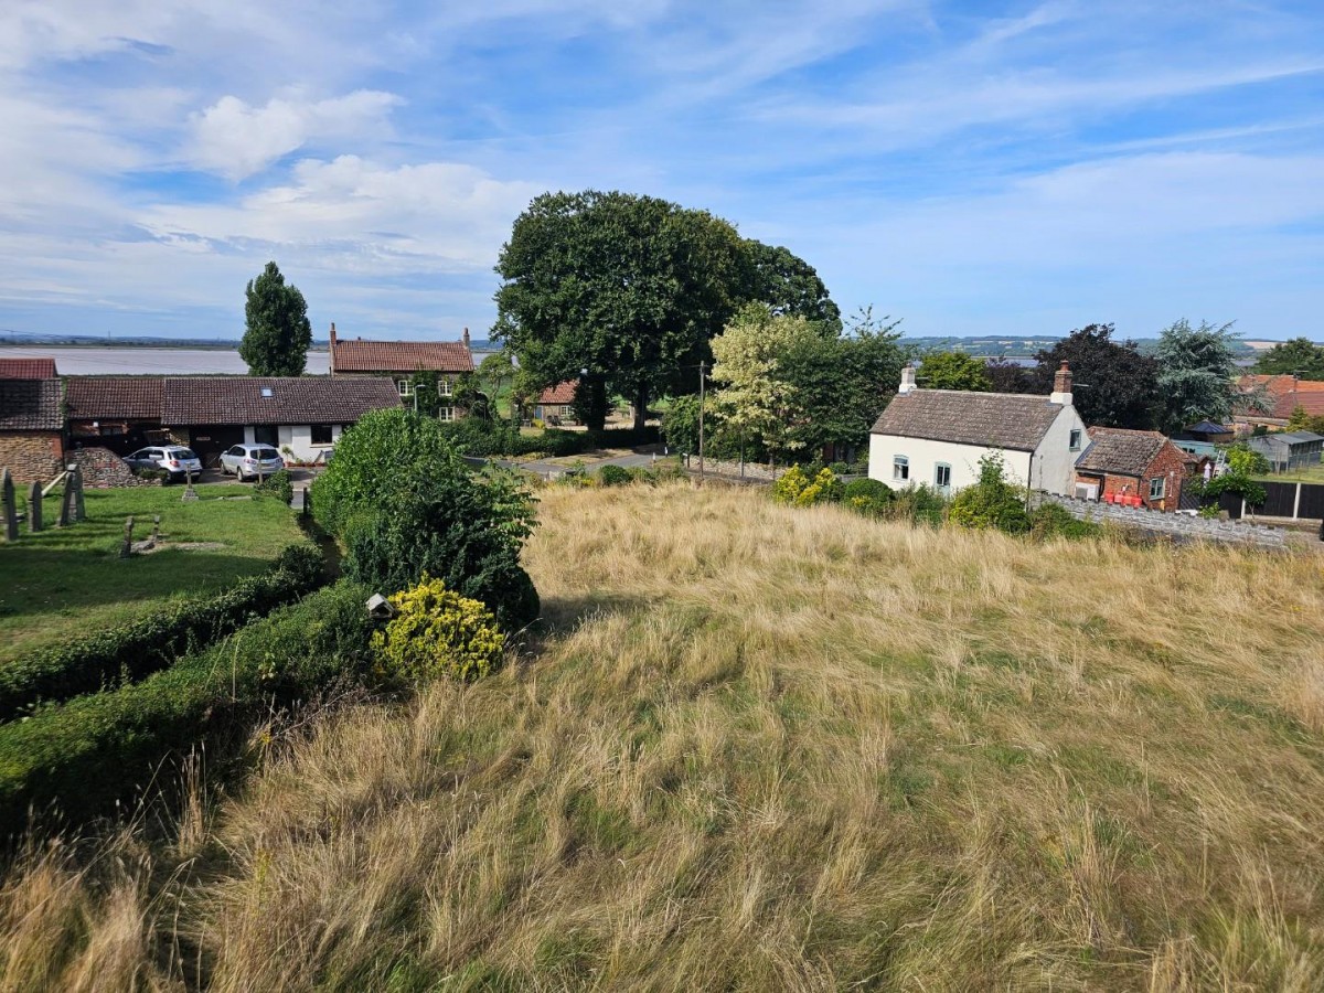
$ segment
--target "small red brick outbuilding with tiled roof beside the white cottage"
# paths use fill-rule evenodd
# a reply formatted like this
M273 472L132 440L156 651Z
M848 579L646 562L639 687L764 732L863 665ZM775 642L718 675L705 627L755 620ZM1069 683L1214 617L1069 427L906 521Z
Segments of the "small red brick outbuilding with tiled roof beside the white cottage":
M1091 428L1090 445L1076 459L1076 495L1111 500L1139 496L1151 510L1181 507L1181 490L1200 459L1158 432Z

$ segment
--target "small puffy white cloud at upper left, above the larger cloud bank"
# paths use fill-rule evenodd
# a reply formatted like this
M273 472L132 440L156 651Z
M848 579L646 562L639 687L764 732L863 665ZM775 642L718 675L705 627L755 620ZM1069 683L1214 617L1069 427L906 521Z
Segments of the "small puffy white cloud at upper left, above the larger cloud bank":
M383 138L389 132L392 109L401 103L400 97L377 90L323 101L271 98L262 107L222 97L192 117L185 160L229 179L245 179L308 142Z

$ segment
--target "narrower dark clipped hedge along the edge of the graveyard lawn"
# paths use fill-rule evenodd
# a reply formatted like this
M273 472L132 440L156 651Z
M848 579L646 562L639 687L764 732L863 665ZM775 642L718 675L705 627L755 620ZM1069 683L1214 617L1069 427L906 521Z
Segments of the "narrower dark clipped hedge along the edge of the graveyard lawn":
M257 614L322 584L322 553L308 542L286 545L271 568L220 593L189 597L135 621L38 649L0 666L0 720L41 700L68 700L136 682L229 634Z

